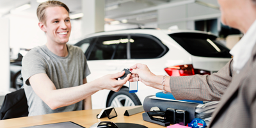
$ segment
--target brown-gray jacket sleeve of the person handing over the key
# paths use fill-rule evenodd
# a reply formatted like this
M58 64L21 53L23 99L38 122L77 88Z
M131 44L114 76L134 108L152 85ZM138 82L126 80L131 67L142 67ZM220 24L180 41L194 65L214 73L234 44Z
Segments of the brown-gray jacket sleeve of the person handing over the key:
M170 77L171 92L177 100L220 100L233 74L230 60L225 67L211 75Z

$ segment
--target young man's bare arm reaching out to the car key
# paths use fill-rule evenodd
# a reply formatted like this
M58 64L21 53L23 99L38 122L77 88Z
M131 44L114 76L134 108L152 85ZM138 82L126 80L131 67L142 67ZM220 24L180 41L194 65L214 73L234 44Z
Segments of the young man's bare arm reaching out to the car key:
M116 80L116 78L123 75L124 72L118 72L116 74L100 77L99 79L95 79L90 83L82 84L81 86L62 88L59 90L56 90L56 87L52 83L51 79L49 79L47 74L44 73L35 74L29 77L29 83L31 84L36 95L38 95L38 97L40 97L45 104L47 104L51 109L57 109L79 102L87 97L90 97L90 95L99 90L107 89L118 92L118 90L120 90L120 88L131 76L129 74L129 76L125 77L123 80Z

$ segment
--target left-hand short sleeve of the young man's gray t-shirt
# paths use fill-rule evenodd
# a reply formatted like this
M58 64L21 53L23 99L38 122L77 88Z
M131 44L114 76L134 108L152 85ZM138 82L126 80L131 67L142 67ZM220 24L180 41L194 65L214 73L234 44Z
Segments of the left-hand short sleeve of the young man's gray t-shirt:
M36 55L36 53L33 54L32 51L28 52L28 54L22 58L21 74L24 84L29 86L29 77L40 73L46 74L45 61L40 58L40 56Z

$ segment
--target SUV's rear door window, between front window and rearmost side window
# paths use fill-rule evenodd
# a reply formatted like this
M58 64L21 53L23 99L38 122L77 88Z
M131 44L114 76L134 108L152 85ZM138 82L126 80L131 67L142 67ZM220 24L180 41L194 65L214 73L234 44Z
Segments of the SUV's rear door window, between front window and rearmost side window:
M88 60L111 60L127 58L127 36L102 36L93 44Z

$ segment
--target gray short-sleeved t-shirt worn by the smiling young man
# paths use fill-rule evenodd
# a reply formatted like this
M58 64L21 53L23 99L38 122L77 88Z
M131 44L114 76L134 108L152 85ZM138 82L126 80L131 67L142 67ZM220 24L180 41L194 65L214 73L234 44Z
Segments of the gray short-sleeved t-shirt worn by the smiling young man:
M35 74L45 73L57 90L83 84L83 79L90 74L84 53L79 47L68 44L67 47L68 55L66 57L57 56L46 45L42 45L31 49L22 59L22 77L28 99L29 116L76 111L83 108L83 101L80 101L52 110L36 95L28 81L29 77Z

